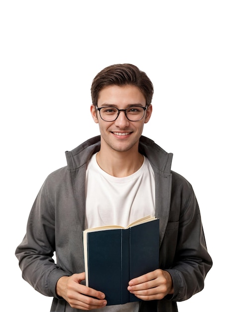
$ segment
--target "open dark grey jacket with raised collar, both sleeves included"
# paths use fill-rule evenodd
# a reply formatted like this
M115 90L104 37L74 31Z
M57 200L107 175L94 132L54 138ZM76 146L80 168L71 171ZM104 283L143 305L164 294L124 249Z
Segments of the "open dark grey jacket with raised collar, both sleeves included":
M16 248L22 277L45 296L52 296L51 311L73 312L58 297L58 279L84 272L83 230L85 223L85 176L87 162L100 150L100 136L71 152L67 166L52 172L32 206L26 235ZM174 294L155 302L141 302L140 311L177 311L177 301L189 299L204 287L212 267L191 184L171 170L172 154L152 140L141 137L139 152L146 156L155 174L155 215L160 219L160 269L173 279ZM52 256L56 252L57 263ZM79 311L79 310L77 310Z

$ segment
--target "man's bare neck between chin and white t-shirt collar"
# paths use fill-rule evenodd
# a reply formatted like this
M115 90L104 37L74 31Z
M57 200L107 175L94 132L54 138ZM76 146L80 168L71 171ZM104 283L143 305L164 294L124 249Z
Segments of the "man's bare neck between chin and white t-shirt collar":
M101 150L96 157L98 165L110 175L124 177L136 172L142 165L144 157L138 153L116 152L103 153Z

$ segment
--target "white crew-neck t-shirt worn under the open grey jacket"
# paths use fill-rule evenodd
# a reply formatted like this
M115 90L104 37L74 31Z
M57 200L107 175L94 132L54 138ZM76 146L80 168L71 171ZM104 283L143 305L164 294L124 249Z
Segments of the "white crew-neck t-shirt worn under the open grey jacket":
M126 227L147 215L155 215L155 179L148 159L144 157L141 167L133 174L115 177L101 169L94 154L86 172L86 228ZM128 303L100 310L137 312L138 305Z

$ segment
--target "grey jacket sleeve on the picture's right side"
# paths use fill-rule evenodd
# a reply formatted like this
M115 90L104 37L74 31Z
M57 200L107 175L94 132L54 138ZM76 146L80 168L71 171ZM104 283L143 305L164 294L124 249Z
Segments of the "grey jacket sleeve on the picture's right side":
M181 178L181 181L180 181ZM200 210L190 183L174 176L170 224L175 224L175 235L166 231L167 248L173 256L165 268L173 279L173 301L184 301L204 288L204 280L212 267L207 251ZM171 231L172 232L172 231Z

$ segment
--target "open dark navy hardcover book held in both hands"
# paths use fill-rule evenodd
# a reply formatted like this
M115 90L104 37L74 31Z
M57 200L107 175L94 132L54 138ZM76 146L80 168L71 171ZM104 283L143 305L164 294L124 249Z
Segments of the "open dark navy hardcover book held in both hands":
M139 301L128 282L158 269L159 219L146 216L126 228L112 225L83 232L86 286L103 292L108 306Z

